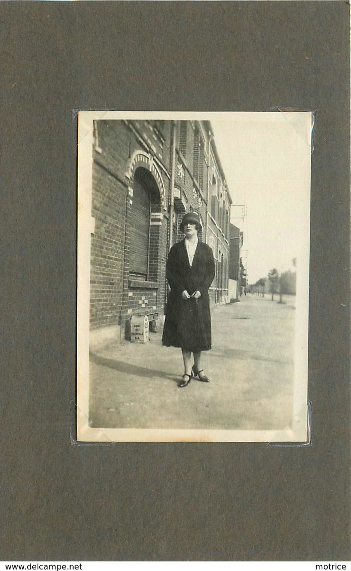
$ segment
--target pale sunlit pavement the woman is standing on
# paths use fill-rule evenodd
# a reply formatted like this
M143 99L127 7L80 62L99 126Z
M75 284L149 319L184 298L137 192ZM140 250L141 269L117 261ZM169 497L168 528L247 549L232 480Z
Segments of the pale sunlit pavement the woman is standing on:
M95 428L283 429L292 417L294 298L283 304L248 294L211 310L211 379L178 388L181 351L114 344L91 354L90 419Z

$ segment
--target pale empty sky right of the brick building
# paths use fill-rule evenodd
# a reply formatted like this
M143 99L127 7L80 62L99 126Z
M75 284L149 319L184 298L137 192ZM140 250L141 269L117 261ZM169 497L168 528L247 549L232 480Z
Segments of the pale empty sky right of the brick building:
M309 243L310 132L308 113L238 112L211 118L233 205L231 222L244 232L248 282L276 268L306 264ZM303 258L303 260L302 260ZM307 260L308 263L308 260Z

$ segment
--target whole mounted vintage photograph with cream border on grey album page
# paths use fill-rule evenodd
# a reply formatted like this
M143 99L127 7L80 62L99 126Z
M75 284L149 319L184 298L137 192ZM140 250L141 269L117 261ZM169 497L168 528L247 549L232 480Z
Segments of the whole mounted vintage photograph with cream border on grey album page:
M312 131L79 112L78 441L308 440Z

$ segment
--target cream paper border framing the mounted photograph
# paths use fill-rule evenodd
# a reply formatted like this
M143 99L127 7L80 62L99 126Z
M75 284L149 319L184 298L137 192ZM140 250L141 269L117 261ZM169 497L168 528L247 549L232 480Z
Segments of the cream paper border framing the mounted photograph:
M274 120L283 113L288 121L294 114L306 115L299 134L311 148L312 112L310 111L238 111L238 112L164 112L164 111L79 111L78 114L78 295L77 295L77 403L76 440L79 442L264 442L306 443L308 426L308 283L310 192L302 204L301 233L297 239L296 330L294 347L293 417L280 431L183 430L91 428L89 426L89 335L90 335L90 240L92 200L93 120L183 119ZM270 117L268 117L268 115ZM296 124L292 124L296 129ZM310 164L310 163L309 163ZM310 168L309 168L310 188Z

